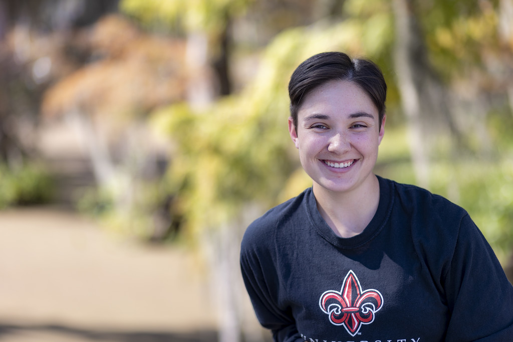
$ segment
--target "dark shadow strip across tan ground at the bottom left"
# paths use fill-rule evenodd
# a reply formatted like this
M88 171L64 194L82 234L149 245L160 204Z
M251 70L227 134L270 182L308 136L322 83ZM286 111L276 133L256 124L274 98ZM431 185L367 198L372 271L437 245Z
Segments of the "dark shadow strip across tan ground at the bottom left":
M154 331L108 331L102 329L84 329L62 325L14 325L0 323L0 340L25 333L46 333L70 341L112 341L112 342L215 342L215 331L190 333L154 332ZM61 340L60 339L60 340Z

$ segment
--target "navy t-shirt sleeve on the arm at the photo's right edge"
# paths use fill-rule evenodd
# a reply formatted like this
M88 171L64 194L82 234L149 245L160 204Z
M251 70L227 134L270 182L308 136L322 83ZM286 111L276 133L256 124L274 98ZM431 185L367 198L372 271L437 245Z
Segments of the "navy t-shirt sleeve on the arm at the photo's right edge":
M446 341L513 338L513 287L468 215L461 221L444 288L451 310Z

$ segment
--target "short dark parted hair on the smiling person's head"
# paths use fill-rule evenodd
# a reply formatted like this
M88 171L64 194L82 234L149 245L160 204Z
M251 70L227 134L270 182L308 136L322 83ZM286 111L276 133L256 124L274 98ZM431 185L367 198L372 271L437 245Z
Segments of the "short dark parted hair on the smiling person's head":
M311 56L292 73L289 82L290 116L298 127L298 111L304 98L328 81L349 81L365 91L376 108L380 127L385 116L386 82L380 68L364 58L351 59L343 52L323 52Z

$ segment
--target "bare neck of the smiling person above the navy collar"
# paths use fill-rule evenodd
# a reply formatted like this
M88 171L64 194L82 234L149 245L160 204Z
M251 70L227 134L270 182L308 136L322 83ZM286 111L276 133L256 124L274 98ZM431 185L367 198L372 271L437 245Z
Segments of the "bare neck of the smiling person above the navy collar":
M352 237L363 232L378 210L380 185L376 175L358 189L338 193L318 184L313 185L317 208L328 226L341 237Z

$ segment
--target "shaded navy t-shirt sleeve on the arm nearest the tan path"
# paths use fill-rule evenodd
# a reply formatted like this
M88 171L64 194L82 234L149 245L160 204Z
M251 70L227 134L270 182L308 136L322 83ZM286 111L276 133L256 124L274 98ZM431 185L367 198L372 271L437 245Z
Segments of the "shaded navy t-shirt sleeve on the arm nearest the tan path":
M277 278L273 276L272 263L265 259L267 259L266 256L259 257L253 248L245 247L243 240L241 271L255 314L260 324L272 331L274 341L304 341L298 333L291 312L278 306L279 284L275 280ZM266 266L266 272L264 272L263 264Z

